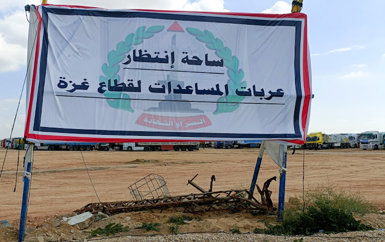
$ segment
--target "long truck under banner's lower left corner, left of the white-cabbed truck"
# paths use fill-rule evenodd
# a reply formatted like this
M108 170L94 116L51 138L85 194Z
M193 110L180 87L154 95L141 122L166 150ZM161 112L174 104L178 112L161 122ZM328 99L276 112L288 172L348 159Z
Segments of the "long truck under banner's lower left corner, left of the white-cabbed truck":
M91 151L110 149L108 143L35 143L33 150L74 150Z

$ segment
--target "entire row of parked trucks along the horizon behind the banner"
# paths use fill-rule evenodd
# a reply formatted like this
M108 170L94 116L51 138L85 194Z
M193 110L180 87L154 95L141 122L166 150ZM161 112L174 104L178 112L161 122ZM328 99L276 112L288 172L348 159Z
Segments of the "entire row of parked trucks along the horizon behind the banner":
M139 143L35 143L34 150L142 150L142 151L194 151L200 147L214 147L216 149L232 148L259 148L261 140L242 140L242 141L215 141L215 142L139 142ZM1 140L2 147L11 149L25 149L25 140L23 138L5 138ZM296 145L291 148L301 149L347 149L361 148L367 149L385 149L385 132L366 131L360 134L325 134L322 132L310 133L306 137L306 143L302 146Z

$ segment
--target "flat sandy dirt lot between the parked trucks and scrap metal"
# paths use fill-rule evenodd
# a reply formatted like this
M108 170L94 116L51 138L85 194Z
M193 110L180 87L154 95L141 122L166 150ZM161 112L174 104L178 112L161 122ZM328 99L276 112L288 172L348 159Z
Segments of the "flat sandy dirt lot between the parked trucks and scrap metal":
M253 176L259 149L213 149L199 151L86 151L85 163L101 201L130 200L127 187L142 177L156 173L165 178L171 195L198 192L187 184L195 182L209 188L211 175L216 176L214 191L248 188ZM17 187L17 150L9 150L0 178L0 220L17 225L22 203L23 156ZM302 194L303 150L287 155L286 196ZM4 159L5 149L0 148ZM2 164L1 164L2 165ZM257 184L279 176L278 166L263 157ZM360 192L380 208L385 208L385 150L360 149L305 151L305 190L321 183L331 183L344 190ZM279 181L273 181L272 199L278 203ZM29 199L28 218L54 216L80 209L98 198L90 183L80 151L35 151Z

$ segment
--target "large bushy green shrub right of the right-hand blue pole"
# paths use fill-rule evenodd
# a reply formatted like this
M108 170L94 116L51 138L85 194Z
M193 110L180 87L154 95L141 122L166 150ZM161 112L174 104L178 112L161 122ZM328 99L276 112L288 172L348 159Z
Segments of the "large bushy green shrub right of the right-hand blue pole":
M353 213L368 213L373 205L358 193L345 192L332 185L319 185L306 193L305 205L294 199L292 207L285 209L282 223L270 225L267 229L254 230L255 233L311 235L319 231L339 233L349 231L374 230L353 217Z

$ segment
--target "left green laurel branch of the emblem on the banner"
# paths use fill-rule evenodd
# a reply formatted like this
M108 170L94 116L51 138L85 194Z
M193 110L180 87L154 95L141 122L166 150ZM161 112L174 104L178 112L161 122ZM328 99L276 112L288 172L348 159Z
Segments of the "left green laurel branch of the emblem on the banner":
M153 37L156 33L161 32L164 29L164 26L151 26L146 29L146 26L139 27L135 32L130 33L126 36L124 41L121 41L117 44L116 50L111 50L107 55L108 64L104 63L102 65L102 71L105 76L99 76L100 83L106 83L109 79L117 79L120 82L120 76L118 75L120 66L119 63L126 57L132 46L140 45L143 43L143 39L148 39ZM103 89L104 90L104 89ZM122 109L129 112L134 110L131 108L130 96L122 92L110 92L106 90L103 95L108 98L107 103L109 106L115 109ZM123 98L123 99L117 99Z

